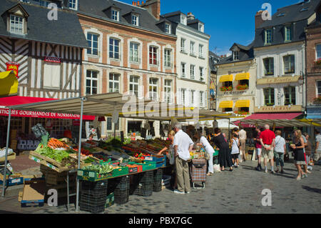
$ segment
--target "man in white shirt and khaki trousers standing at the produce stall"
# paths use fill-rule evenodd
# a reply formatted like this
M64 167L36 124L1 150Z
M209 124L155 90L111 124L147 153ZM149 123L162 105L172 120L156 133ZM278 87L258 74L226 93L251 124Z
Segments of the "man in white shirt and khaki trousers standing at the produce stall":
M174 149L175 149L175 165L177 175L178 189L174 190L176 194L190 193L190 173L188 169L188 160L190 159L190 152L193 149L194 142L188 134L182 131L180 123L175 124L174 131Z

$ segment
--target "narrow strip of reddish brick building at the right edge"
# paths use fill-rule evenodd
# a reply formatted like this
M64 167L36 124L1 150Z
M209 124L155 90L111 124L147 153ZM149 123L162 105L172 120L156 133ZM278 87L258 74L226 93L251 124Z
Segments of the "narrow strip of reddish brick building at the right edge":
M307 26L307 119L321 119L321 7Z

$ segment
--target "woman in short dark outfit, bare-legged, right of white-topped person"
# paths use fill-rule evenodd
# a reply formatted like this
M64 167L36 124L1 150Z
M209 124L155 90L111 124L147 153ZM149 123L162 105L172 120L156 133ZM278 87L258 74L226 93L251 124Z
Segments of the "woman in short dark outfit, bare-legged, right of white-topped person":
M295 155L294 160L295 167L297 167L297 180L300 180L301 178L307 177L307 174L305 174L301 169L301 165L305 164L305 152L303 152L303 148L305 148L305 142L302 138L302 133L300 130L295 130L294 136L294 142L291 144L291 147Z

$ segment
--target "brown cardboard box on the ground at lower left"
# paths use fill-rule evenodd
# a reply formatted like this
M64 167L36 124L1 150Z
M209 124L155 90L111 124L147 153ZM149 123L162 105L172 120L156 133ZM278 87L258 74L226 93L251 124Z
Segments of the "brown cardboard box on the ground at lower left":
M24 184L21 207L43 207L46 194L44 179L31 179Z

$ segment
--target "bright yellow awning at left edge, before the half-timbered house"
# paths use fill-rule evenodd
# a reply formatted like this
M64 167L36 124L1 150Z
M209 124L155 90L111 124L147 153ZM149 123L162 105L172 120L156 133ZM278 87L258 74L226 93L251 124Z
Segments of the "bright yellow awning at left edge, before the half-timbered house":
M18 93L18 84L14 71L0 72L0 96Z

